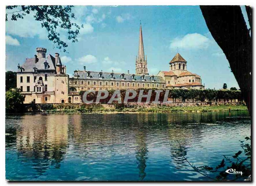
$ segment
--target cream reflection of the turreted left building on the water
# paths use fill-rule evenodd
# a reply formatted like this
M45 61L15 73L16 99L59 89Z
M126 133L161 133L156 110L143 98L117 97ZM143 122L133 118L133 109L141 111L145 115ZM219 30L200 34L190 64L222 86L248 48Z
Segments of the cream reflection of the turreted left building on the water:
M35 117L38 122L35 122ZM68 148L68 115L59 117L24 115L21 126L17 128L17 150L35 164L39 173L51 165L59 167Z

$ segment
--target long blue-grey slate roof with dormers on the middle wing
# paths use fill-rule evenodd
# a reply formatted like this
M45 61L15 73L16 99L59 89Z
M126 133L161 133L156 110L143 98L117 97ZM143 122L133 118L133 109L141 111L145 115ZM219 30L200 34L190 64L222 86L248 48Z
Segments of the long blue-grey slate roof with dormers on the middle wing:
M87 77L87 72L88 71L77 71L79 77L78 79L92 79L92 80L100 80L99 78L99 73L100 72L95 72L95 71L90 71L91 78ZM114 79L110 78L110 74L112 72L102 72L102 80L111 80L111 81L133 81L132 80L132 74L125 74L125 73L113 73L114 74ZM121 74L124 74L124 80L121 79ZM144 79L146 81L142 81L141 75L134 74L134 79L135 82L152 82L151 75L144 75ZM154 76L155 82L157 83L165 83L164 79L160 76Z

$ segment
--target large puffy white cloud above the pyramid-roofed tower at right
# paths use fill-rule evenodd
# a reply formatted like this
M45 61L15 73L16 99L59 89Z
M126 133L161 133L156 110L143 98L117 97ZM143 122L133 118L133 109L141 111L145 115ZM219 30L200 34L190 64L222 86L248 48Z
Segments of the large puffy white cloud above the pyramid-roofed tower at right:
M210 39L199 33L189 33L183 38L175 38L171 44L170 49L201 49L209 46Z

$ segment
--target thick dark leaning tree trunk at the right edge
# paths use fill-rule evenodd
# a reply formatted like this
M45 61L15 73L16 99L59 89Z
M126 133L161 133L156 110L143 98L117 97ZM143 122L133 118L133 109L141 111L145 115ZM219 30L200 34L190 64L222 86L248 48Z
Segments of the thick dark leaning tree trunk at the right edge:
M223 50L251 115L252 43L240 6L200 6L212 37ZM251 7L246 7L251 21Z

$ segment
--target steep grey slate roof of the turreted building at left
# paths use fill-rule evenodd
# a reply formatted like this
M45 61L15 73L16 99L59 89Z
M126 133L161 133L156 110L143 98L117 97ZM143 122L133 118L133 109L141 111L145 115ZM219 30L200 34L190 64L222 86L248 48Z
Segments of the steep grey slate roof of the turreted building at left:
M35 58L27 58L25 63L22 64L20 67L24 68L24 72L34 72L34 67L37 68L37 70L43 70L44 69L44 62L45 60L48 62L49 68L47 70L55 70L55 58L48 54L46 58L40 58L37 63L35 63Z

